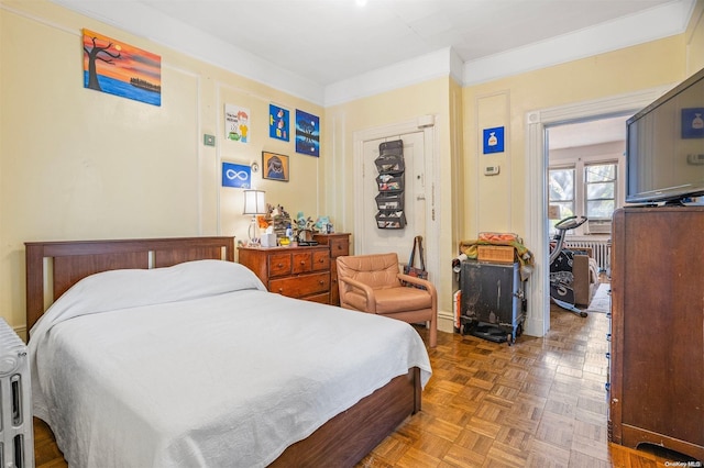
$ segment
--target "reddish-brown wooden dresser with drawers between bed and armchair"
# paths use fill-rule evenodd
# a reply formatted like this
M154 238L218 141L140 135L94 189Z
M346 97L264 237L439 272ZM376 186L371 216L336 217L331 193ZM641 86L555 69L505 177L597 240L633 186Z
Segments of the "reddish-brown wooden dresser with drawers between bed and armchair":
M317 236L319 245L316 246L240 247L239 263L254 271L271 292L337 304L339 290L334 258L344 250L343 239L346 239L349 250L349 234L340 234L339 237L328 234L324 243L322 235Z

